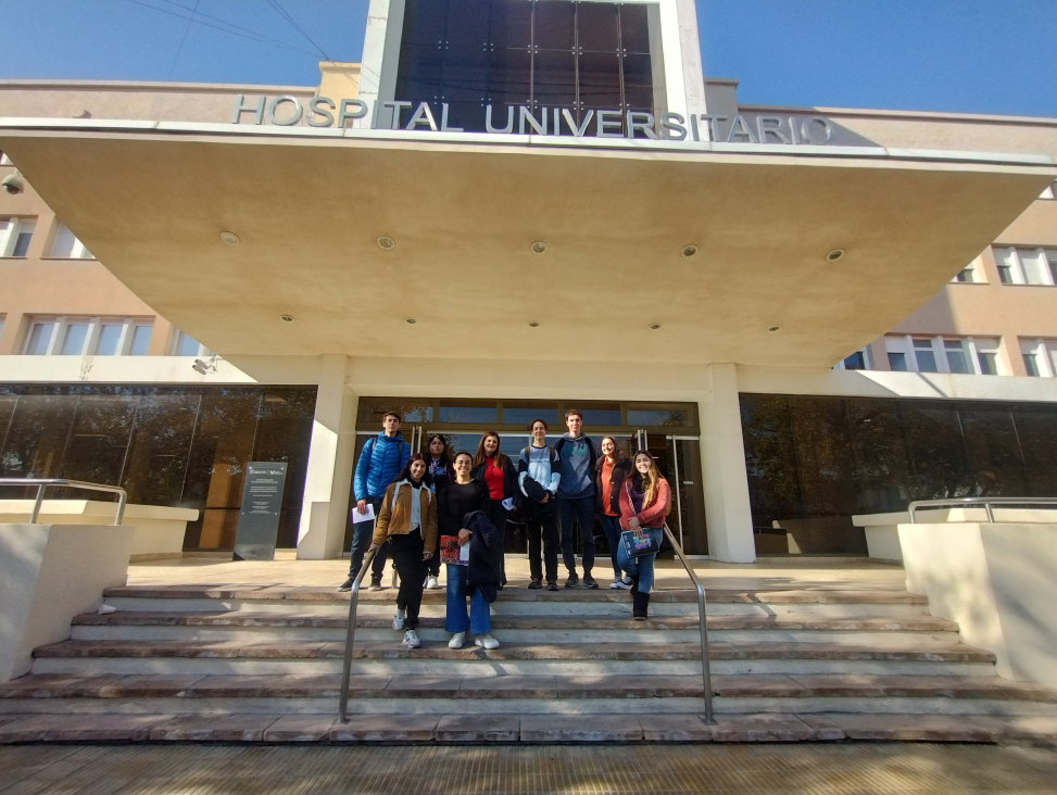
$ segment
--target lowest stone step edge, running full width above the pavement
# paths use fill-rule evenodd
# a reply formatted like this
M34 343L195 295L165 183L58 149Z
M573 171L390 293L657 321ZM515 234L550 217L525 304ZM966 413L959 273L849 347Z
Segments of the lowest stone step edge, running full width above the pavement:
M5 716L0 744L548 744L888 741L1057 747L1055 718L920 715Z

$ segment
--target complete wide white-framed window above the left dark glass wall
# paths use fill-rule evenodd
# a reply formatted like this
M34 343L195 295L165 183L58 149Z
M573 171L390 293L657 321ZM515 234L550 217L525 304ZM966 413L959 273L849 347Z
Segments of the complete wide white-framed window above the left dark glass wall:
M29 356L146 356L152 320L133 317L33 317L22 352Z

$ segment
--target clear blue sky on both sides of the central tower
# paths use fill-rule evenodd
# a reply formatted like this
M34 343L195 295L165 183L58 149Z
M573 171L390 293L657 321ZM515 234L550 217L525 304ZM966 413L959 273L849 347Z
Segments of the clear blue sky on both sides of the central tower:
M320 51L360 59L367 4L0 0L0 79L316 85ZM739 78L744 103L1057 116L1057 0L699 0L697 16L705 74Z

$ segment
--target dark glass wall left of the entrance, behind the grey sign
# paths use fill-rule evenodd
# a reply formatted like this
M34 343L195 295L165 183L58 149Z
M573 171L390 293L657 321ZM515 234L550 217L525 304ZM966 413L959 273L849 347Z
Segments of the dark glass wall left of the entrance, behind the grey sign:
M284 460L278 546L293 547L315 401L315 387L0 386L0 477L87 480L121 485L129 503L197 508L185 548L230 550L246 464Z

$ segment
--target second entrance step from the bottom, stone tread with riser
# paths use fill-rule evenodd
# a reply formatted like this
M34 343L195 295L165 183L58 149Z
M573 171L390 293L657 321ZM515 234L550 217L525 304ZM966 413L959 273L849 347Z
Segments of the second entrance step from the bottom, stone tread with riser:
M23 677L0 685L0 712L326 715L339 678L278 676ZM719 712L1057 717L1057 693L998 677L717 676ZM370 715L692 714L696 677L356 677L350 710ZM634 709L628 709L634 699Z

